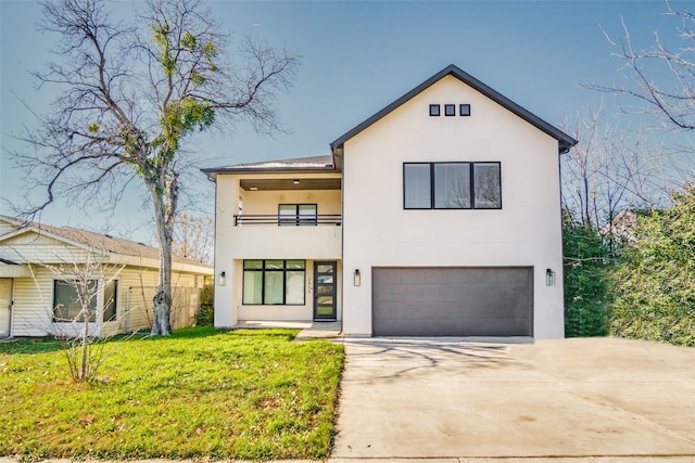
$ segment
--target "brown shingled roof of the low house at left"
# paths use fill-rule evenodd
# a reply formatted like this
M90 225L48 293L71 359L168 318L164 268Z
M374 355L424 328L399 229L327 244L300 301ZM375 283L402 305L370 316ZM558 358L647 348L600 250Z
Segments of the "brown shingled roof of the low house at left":
M54 240L76 245L78 247L86 247L100 254L109 253L149 259L160 258L160 249L156 247L148 246L143 243L137 243L130 240L115 237L109 234L96 233L87 230L75 229L72 227L53 227L47 226L46 223L37 223L30 221L27 222L7 216L0 216L0 220L12 224L14 228L14 231L0 235L0 242L26 232L35 232L38 234L50 236ZM210 268L210 266L201 263L197 260L187 259L176 255L172 256L172 260L174 262Z

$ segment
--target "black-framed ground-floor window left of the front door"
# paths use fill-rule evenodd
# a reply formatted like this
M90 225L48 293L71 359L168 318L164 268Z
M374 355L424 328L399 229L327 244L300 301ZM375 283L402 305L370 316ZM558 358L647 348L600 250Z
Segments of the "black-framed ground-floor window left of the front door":
M248 306L303 306L305 282L305 260L244 260L242 301Z

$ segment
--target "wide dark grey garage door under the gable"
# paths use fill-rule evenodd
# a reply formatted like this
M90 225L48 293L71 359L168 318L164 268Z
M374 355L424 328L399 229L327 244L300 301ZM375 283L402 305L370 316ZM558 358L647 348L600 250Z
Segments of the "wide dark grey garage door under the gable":
M375 268L375 336L532 336L531 268Z

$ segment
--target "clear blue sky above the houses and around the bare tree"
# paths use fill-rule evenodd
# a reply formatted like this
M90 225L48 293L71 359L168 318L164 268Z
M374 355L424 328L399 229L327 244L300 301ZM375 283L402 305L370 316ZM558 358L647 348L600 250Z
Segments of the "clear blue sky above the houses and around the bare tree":
M134 5L112 3L123 14ZM243 125L231 133L206 132L188 145L202 159L199 167L326 154L329 142L448 64L560 126L599 105L602 95L582 83L626 79L602 27L619 39L624 22L636 48L646 48L655 30L673 38L678 26L665 15L664 1L216 1L210 7L236 37L253 31L300 53L303 64L290 93L278 99L287 133L264 138ZM36 127L33 113L46 113L54 95L48 88L37 90L29 75L50 60L56 40L37 29L39 15L34 1L0 0L0 214L10 214L5 201L17 202L26 191L9 154L26 147L13 136ZM612 104L605 100L607 117L618 113ZM200 173L190 187L193 196L208 200L194 207L212 213L212 184ZM152 214L142 204L134 183L114 213L60 202L42 220L152 242Z

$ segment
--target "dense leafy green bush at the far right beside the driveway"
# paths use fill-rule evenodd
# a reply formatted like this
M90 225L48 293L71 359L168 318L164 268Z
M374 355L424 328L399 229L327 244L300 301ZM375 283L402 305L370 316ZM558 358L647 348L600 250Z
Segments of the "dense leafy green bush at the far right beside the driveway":
M615 336L695 346L695 187L637 222L615 272Z

